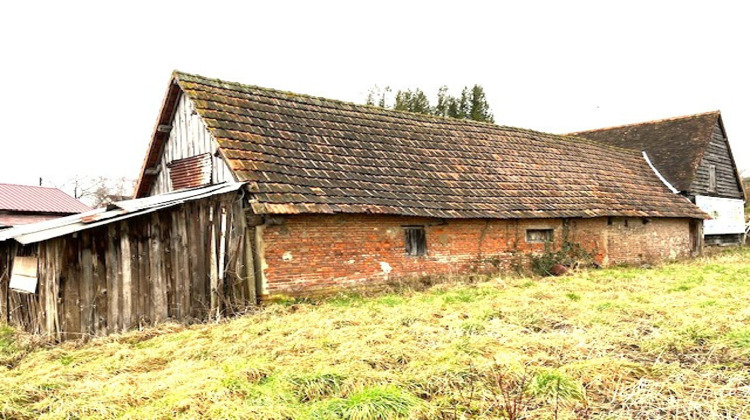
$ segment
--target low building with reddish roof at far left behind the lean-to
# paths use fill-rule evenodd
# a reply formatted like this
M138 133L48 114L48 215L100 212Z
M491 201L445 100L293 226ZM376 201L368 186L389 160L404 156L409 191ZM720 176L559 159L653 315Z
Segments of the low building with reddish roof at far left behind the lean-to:
M57 188L0 184L0 229L89 210Z

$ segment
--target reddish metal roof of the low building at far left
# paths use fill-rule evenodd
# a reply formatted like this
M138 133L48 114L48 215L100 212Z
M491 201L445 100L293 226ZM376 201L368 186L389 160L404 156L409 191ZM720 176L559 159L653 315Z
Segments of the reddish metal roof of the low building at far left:
M0 210L71 214L91 207L57 188L0 184Z

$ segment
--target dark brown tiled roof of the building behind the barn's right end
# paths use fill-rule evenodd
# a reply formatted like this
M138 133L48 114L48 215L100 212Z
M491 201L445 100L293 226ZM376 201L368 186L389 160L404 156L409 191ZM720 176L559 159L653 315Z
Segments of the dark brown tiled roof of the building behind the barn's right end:
M719 111L570 133L633 150L645 150L656 169L680 191L689 191Z

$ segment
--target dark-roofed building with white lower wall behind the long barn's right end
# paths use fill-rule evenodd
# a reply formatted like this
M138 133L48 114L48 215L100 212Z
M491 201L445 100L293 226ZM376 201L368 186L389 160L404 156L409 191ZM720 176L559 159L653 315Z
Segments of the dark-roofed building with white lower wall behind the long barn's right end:
M706 244L741 243L745 191L719 111L570 135L644 151L674 189L711 215Z

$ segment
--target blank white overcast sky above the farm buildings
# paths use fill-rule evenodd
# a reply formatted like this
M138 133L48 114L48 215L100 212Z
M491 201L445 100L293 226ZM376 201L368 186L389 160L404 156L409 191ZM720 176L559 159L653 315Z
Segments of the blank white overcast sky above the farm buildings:
M173 69L360 103L477 83L554 133L720 109L750 174L742 2L367 4L3 2L0 182L136 178Z

